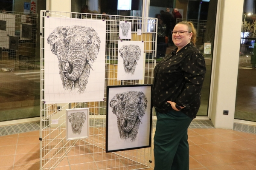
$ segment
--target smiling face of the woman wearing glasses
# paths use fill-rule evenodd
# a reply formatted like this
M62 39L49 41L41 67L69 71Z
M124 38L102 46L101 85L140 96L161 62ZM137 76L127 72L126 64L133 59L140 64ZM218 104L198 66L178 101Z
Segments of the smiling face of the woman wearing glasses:
M177 24L173 28L173 31L189 31L189 28L184 24ZM180 35L179 33L172 34L172 41L178 47L178 49L181 49L190 42L191 37L192 32L184 32L183 35Z

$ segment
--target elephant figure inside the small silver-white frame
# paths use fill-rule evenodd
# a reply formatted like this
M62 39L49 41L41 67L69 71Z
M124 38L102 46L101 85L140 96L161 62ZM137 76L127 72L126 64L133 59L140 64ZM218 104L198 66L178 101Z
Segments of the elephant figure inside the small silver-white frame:
M72 131L74 134L78 133L80 135L83 124L86 120L86 115L84 112L71 113L67 117L68 121L71 123Z

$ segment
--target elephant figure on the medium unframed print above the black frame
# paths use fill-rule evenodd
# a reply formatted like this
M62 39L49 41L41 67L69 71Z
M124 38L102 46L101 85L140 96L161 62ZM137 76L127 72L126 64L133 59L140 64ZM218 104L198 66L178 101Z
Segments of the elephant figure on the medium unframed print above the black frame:
M123 45L119 49L119 53L123 59L125 73L133 75L140 59L141 50L139 45Z

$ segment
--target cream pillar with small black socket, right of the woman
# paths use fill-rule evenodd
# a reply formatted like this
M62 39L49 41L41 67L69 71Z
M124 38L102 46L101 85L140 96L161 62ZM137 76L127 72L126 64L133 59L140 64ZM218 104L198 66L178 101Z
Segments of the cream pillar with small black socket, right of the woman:
M217 128L233 129L243 4L243 0L218 0L209 105ZM224 110L229 115L223 115Z

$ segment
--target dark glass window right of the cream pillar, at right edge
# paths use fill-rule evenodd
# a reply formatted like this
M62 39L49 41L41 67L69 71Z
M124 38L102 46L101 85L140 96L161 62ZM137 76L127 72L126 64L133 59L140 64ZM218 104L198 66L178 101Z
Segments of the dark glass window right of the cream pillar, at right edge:
M235 119L256 122L256 0L244 0Z

